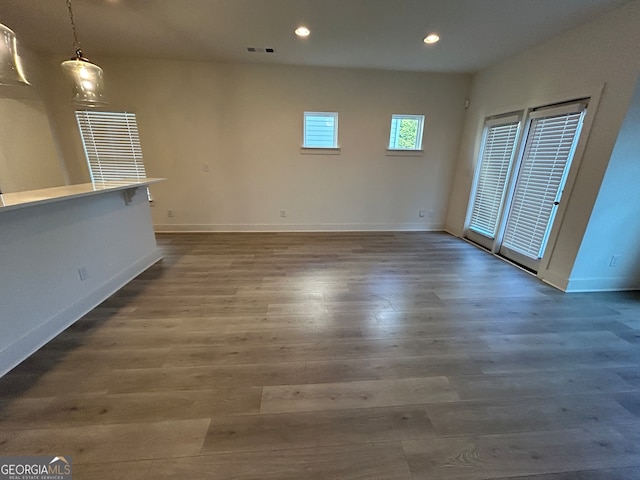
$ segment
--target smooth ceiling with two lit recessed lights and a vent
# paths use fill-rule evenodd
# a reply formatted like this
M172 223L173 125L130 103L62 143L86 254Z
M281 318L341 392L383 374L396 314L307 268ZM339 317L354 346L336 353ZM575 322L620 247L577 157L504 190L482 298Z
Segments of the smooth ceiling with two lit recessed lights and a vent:
M73 0L85 56L474 72L628 0ZM20 44L73 54L65 0L0 0ZM299 39L300 24L311 36ZM441 41L425 45L438 32ZM274 54L248 53L270 47Z

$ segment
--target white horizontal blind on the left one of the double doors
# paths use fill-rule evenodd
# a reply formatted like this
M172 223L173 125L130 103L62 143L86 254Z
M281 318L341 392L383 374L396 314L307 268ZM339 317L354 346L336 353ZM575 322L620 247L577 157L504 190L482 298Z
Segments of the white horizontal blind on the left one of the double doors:
M498 227L519 128L520 120L514 116L485 126L469 228L491 239Z

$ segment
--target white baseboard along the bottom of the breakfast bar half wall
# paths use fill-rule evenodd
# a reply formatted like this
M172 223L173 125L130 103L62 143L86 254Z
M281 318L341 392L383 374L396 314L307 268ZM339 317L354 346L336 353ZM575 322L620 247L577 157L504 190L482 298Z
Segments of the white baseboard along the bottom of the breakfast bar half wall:
M0 377L161 259L156 249L0 351Z

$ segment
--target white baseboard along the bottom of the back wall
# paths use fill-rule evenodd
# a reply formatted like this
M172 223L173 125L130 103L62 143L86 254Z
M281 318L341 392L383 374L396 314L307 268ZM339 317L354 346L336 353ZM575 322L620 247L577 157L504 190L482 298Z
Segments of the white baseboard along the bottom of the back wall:
M156 233L172 232L441 232L444 225L425 223L310 224L157 224Z

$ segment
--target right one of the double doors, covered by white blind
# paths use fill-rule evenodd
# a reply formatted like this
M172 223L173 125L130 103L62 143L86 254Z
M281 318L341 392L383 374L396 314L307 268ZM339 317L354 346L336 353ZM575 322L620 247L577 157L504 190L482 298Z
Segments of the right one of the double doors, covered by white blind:
M518 258L511 255L512 259L534 270L546 246L584 113L583 104L573 104L530 115L501 251L506 249L506 256L515 252Z

